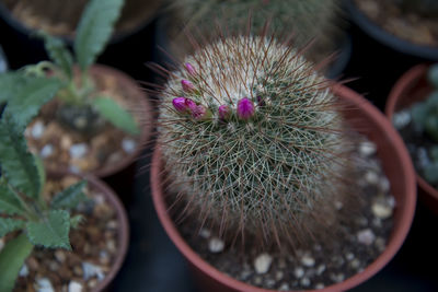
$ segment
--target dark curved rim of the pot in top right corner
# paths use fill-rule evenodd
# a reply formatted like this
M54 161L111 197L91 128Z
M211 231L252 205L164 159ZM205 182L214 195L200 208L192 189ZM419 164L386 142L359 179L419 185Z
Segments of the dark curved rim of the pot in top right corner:
M438 61L438 47L414 44L388 33L362 13L353 0L344 1L344 5L348 11L349 20L387 47L422 59Z

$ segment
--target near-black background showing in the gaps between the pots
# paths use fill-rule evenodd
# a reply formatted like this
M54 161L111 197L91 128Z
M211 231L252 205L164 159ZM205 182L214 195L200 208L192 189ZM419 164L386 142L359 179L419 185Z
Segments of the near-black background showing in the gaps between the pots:
M99 62L118 68L139 82L155 82L154 74L146 63L163 61L159 49L164 46L160 27L153 21L137 34L110 45ZM412 66L428 60L381 45L353 23L346 30L350 54L339 77L355 78L346 85L383 109L387 96L401 74ZM0 45L11 69L45 58L39 42L18 34L3 20L0 20ZM131 229L129 252L113 282L113 290L196 292L199 290L186 262L165 235L153 210L149 170L146 167L151 151L150 148L146 149L137 162L131 185L107 180L123 194L120 197L128 211ZM411 232L397 255L383 270L353 291L438 291L437 230L438 214L418 201Z

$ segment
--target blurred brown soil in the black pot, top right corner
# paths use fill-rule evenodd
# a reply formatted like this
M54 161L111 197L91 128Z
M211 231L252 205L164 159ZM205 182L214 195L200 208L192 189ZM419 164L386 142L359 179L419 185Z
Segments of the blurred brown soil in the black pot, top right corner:
M438 47L438 17L406 11L395 1L355 0L357 7L376 24L392 35L418 45Z

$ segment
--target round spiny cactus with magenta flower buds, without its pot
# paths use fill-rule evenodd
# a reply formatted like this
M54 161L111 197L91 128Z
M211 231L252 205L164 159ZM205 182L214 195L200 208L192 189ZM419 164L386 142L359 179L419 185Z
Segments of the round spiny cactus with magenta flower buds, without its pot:
M293 247L339 220L354 141L301 55L274 38L231 37L171 73L159 143L170 192L199 227Z

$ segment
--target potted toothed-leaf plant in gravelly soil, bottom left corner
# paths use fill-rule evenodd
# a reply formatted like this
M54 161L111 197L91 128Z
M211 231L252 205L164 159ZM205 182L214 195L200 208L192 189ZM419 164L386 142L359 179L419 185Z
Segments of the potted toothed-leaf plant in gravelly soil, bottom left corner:
M41 160L27 151L23 132L23 124L4 113L0 290L103 291L127 252L128 224L122 203L95 178L81 180L62 173L46 177Z

